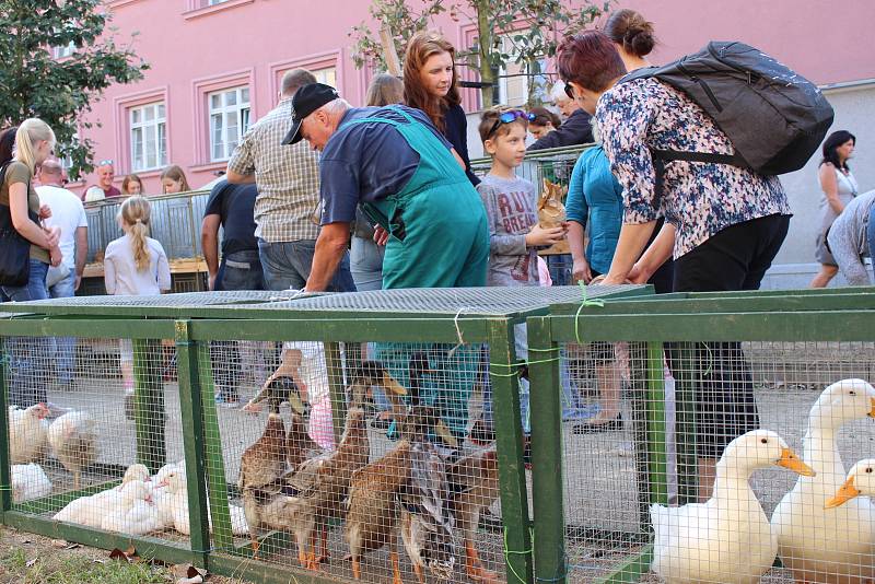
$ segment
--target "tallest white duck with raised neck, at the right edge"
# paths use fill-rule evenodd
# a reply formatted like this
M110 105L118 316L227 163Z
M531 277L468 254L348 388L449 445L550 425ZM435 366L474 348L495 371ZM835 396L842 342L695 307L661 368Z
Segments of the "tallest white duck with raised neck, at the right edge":
M875 579L875 505L855 499L824 509L845 476L836 433L844 423L867 416L875 417L875 388L862 379L833 383L808 414L803 459L817 476L801 477L772 514L781 561L797 582L851 584Z

